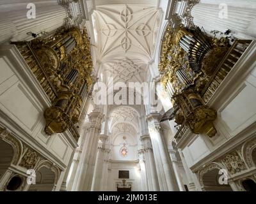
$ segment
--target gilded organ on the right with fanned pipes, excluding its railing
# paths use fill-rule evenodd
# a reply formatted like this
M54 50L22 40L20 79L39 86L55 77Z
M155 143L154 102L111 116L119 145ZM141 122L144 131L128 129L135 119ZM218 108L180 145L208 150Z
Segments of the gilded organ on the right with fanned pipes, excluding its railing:
M161 82L172 96L173 108L163 120L186 124L193 133L214 136L216 111L205 105L201 92L228 50L227 39L212 39L198 27L168 27L162 44Z

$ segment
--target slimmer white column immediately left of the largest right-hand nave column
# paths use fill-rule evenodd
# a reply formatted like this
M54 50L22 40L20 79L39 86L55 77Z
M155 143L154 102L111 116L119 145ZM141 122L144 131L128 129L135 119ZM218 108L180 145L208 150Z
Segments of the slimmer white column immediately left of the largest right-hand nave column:
M143 135L140 137L140 140L143 143L143 153L145 157L148 191L160 191L159 182L157 178L156 163L154 159L150 136Z

